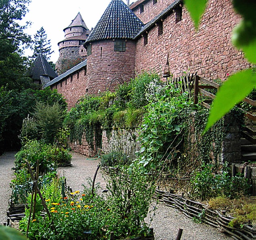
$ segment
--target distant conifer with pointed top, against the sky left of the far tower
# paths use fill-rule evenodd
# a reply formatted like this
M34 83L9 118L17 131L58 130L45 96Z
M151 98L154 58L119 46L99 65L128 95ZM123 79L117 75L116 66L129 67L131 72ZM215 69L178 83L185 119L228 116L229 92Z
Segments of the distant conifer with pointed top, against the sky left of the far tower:
M51 41L47 39L47 34L43 27L34 35L34 56L42 53L46 60L50 59L50 55L54 52L51 49Z

